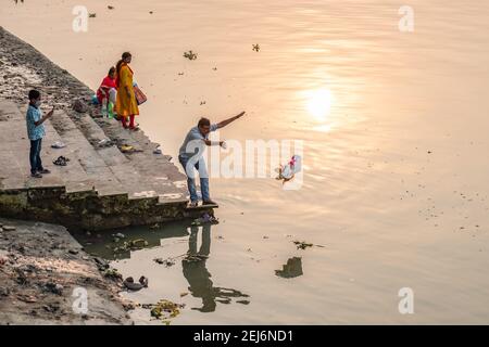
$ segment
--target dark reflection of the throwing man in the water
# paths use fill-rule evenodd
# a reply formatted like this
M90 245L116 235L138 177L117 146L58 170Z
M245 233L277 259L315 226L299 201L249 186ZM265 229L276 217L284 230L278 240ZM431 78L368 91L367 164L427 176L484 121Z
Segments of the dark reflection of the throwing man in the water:
M248 297L239 291L224 287L214 287L211 273L205 267L205 261L211 253L211 224L202 227L202 245L197 250L197 235L199 227L190 227L187 257L181 260L184 277L187 279L188 290L193 297L202 298L201 308L192 308L201 312L215 311L216 301L229 304L230 297Z

